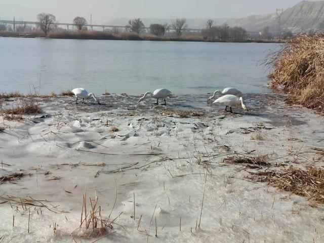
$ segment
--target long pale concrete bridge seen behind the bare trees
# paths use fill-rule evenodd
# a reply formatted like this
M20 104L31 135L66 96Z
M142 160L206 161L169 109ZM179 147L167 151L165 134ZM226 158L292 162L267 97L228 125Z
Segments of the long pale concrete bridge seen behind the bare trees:
M0 23L12 24L14 26L14 30L16 28L15 26L18 25L18 24L32 24L32 25L37 25L38 24L38 22L34 22L34 21L2 20L2 19L0 19ZM76 26L73 23L55 23L55 25L66 26L67 30L69 30L69 26ZM90 27L91 30L93 30L93 27L101 27L102 31L104 31L105 28L109 28L109 29L111 29L111 28L124 28L124 29L127 29L126 26L118 26L118 25L85 24L85 26ZM144 29L148 32L150 28L149 27L144 27ZM174 29L170 28L170 30L174 30ZM200 31L200 29L192 29L192 28L187 28L187 30L193 31L193 32Z

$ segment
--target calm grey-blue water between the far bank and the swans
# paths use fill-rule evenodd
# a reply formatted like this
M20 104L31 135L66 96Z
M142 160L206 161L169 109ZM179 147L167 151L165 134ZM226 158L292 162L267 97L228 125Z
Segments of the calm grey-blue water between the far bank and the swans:
M77 87L97 94L261 93L269 80L260 63L276 45L0 37L0 92L28 93L41 74L42 94Z

